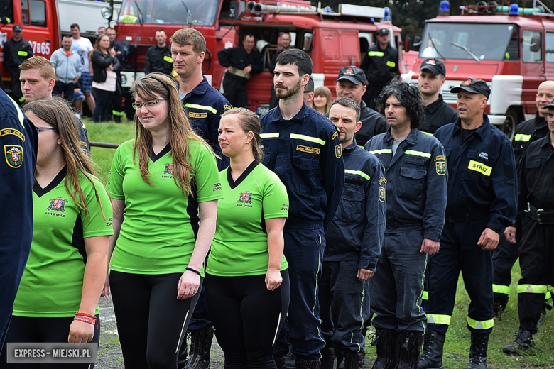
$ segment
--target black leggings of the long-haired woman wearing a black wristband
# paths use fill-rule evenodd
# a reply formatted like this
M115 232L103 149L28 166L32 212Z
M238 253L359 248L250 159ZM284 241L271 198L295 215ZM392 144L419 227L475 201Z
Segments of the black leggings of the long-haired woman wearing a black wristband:
M143 275L114 270L110 273L109 285L125 368L177 368L178 348L199 295L177 299L181 275Z

